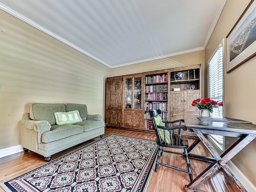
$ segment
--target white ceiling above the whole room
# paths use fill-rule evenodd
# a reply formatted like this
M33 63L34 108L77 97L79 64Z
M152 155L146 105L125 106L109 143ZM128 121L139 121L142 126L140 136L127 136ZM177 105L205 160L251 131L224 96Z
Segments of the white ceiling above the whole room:
M0 8L116 68L204 50L226 0L0 0Z

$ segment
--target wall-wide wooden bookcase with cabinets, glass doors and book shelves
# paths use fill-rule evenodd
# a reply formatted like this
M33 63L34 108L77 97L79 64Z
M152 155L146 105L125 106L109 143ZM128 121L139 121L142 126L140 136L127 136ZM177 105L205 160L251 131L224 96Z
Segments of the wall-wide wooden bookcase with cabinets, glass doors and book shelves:
M175 78L178 72L181 79ZM150 109L162 110L163 120L182 119L183 114L200 114L191 105L196 98L201 98L201 64L107 78L105 122L153 131Z

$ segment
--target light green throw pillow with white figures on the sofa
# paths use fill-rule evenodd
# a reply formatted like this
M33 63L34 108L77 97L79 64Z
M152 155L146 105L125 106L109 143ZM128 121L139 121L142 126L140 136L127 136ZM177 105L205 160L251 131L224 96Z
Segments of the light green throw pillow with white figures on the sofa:
M73 124L82 121L78 110L69 112L55 112L54 116L57 125Z

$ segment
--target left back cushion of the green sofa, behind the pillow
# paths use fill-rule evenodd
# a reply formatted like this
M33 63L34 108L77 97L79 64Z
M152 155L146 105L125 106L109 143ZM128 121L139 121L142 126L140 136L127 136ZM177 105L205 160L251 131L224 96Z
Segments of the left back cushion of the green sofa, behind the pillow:
M66 112L64 104L43 104L32 103L29 105L29 116L32 120L48 121L50 125L55 125L54 112Z

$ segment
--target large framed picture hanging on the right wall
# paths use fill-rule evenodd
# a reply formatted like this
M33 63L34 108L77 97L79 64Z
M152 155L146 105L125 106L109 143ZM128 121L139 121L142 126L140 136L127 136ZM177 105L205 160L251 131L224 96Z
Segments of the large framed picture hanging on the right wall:
M226 72L256 56L256 1L251 0L226 37Z

